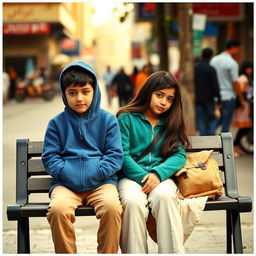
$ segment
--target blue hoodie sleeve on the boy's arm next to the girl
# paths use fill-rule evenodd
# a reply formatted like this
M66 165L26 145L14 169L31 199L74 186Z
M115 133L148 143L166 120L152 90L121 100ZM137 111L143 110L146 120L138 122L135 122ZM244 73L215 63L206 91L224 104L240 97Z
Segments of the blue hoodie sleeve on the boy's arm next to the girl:
M111 116L106 132L105 152L100 160L100 172L103 179L108 179L122 167L123 150L121 135L115 116Z

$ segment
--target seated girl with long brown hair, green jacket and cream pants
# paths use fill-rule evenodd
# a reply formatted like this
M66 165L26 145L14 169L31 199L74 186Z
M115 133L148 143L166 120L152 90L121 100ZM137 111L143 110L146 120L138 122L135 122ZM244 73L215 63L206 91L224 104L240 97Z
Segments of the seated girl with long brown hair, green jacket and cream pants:
M168 72L153 73L117 116L124 150L118 184L124 209L122 253L148 252L149 208L156 221L158 252L184 253L184 240L198 222L206 199L199 200L193 209L190 204L183 205L176 196L177 186L170 179L185 165L184 148L190 145L177 81ZM162 135L151 152L136 161L159 132ZM193 215L192 221L188 220L189 215ZM190 222L189 228L185 222Z

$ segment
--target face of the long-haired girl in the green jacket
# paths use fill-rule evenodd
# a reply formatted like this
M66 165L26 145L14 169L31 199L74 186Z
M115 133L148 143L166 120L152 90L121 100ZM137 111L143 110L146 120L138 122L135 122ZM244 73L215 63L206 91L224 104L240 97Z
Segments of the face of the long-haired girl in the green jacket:
M149 109L153 115L161 115L167 112L175 98L175 89L167 88L154 91L151 96Z

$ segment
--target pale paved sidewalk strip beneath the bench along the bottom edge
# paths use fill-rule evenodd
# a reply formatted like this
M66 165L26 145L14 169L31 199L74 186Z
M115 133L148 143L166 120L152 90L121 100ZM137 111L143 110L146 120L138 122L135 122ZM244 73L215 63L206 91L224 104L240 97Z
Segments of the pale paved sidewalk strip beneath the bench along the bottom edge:
M87 217L85 217L87 218ZM89 217L92 218L92 217ZM88 218L87 218L88 221ZM88 228L76 228L77 250L79 254L97 253L97 224ZM253 253L253 225L242 226L244 253ZM33 254L53 254L54 248L50 229L32 229L30 233L30 248ZM16 252L16 231L3 233L3 253ZM149 238L149 253L157 253L157 245ZM226 252L226 231L222 226L198 225L192 232L186 244L187 254L224 254ZM119 253L121 253L119 251Z

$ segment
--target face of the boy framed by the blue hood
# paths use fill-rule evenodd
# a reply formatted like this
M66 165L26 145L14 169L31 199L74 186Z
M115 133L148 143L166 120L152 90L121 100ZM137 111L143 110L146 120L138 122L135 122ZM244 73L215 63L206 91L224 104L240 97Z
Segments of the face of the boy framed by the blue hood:
M83 116L91 106L94 90L88 83L84 86L70 85L66 88L65 95L69 107L72 108L79 116Z

